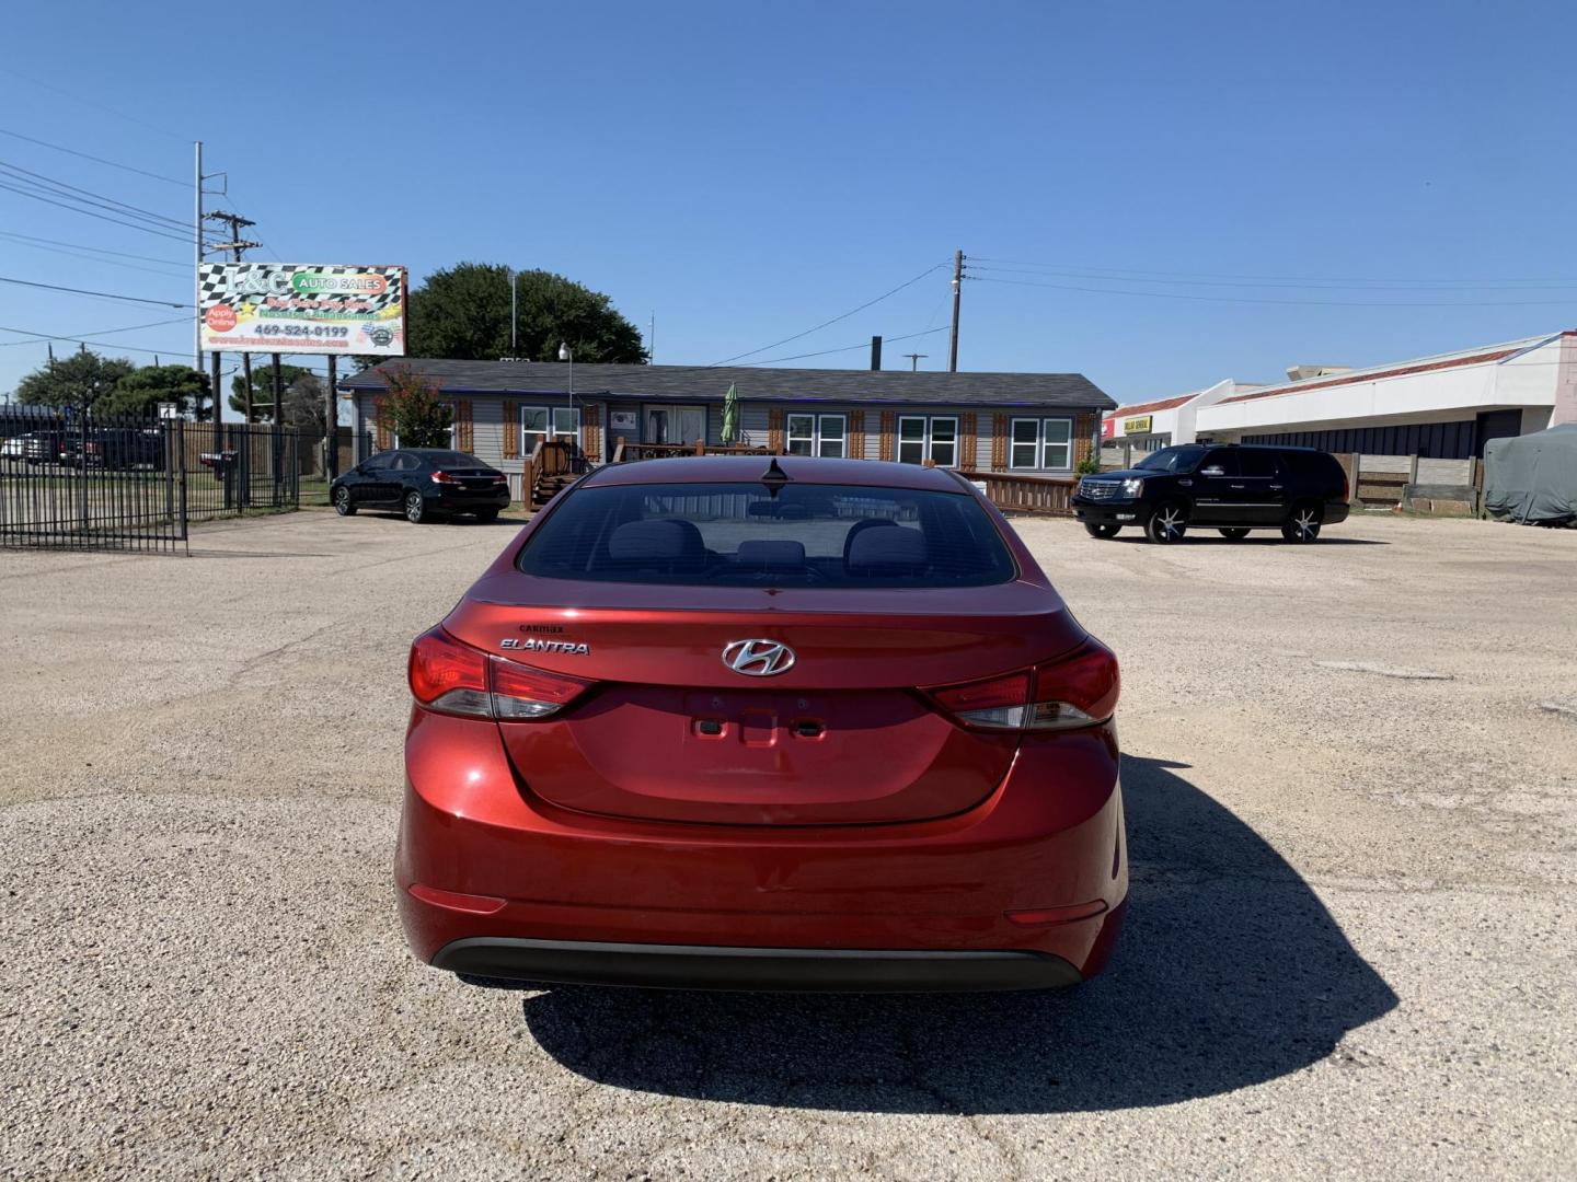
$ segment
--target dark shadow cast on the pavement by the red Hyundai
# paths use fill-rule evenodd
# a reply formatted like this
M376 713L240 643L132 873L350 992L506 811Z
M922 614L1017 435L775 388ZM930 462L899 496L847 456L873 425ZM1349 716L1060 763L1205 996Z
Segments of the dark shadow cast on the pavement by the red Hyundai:
M525 1023L598 1083L842 1111L1117 1110L1290 1075L1396 994L1307 883L1184 769L1123 760L1128 927L1087 985L923 996L554 987L525 999Z

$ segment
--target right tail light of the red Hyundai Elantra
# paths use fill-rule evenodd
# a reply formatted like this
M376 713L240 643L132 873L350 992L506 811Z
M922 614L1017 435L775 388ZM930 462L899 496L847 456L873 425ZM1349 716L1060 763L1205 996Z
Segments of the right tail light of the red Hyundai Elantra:
M927 693L965 727L1060 731L1110 719L1120 689L1117 657L1105 645L1085 640L1072 654L1033 670Z

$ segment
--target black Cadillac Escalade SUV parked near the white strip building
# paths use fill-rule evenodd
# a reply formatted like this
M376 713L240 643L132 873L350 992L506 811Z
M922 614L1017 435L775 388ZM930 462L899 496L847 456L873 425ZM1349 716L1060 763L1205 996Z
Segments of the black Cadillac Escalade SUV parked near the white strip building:
M1347 473L1329 452L1186 443L1128 471L1085 476L1074 512L1091 537L1132 525L1151 542L1181 541L1189 526L1235 541L1249 530L1281 530L1288 542L1312 542L1322 526L1347 519Z

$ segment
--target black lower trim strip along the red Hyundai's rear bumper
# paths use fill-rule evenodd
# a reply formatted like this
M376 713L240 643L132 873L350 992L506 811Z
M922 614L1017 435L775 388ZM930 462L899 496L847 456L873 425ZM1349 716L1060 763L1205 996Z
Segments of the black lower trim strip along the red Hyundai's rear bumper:
M434 968L555 985L768 993L976 993L1077 985L1061 957L1022 950L733 949L472 936Z

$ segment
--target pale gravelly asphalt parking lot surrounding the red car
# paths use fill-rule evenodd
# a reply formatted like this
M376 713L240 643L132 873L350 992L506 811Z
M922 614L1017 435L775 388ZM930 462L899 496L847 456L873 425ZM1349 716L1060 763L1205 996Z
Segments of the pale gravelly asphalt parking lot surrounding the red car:
M1571 1177L1577 531L1020 530L1123 660L1132 901L987 998L413 963L405 646L508 525L0 555L0 1174Z

